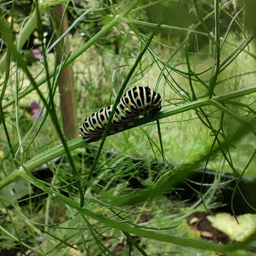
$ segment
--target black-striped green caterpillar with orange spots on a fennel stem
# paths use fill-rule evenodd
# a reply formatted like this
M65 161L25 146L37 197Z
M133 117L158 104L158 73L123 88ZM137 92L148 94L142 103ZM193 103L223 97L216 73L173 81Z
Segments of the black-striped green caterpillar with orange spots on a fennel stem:
M135 86L122 95L115 114L108 129L108 134L113 134L125 127L132 127L133 121L140 115L154 115L162 108L161 95L147 87ZM81 124L80 134L85 141L94 136L103 134L113 105L101 108L88 116Z

